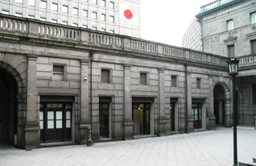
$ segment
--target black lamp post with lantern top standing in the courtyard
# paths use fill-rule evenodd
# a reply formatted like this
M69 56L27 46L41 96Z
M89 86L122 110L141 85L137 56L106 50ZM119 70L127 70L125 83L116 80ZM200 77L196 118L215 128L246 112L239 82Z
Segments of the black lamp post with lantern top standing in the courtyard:
M233 82L233 166L237 166L237 108L236 108L236 75L238 74L239 60L236 58L230 58L227 61L228 72L232 77Z

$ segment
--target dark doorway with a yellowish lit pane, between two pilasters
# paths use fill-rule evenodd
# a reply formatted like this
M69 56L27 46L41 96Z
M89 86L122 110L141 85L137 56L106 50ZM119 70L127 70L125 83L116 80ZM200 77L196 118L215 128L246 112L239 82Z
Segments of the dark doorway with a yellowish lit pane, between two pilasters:
M150 134L150 102L133 103L134 135Z

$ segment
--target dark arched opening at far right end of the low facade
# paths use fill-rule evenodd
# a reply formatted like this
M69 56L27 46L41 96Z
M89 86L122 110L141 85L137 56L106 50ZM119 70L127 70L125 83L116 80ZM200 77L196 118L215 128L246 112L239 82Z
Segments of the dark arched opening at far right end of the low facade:
M223 94L220 91L223 90ZM223 95L223 96L219 96ZM213 87L215 123L222 126L231 126L231 104L230 87L225 82L216 82Z

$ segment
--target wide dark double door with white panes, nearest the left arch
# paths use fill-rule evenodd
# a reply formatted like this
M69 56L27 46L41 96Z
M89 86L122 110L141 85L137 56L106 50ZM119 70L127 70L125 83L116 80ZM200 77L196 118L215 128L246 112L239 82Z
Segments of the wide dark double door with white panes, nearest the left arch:
M72 141L71 102L41 102L41 143Z

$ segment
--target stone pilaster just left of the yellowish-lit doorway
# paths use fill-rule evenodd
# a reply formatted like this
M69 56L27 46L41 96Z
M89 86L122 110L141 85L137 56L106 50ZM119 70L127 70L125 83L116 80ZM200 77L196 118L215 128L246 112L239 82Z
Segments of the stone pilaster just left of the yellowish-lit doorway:
M131 99L131 66L124 65L125 70L125 99L124 99L124 139L131 139L134 135L134 122L132 120L132 99Z

